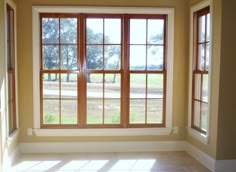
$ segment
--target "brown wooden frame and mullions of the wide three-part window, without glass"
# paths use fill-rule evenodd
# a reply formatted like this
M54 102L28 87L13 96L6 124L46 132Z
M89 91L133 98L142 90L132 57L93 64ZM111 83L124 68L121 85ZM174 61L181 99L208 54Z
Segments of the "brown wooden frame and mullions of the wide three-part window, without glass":
M66 71L66 70L44 70L42 66L42 18L44 17L52 17L52 18L70 18L70 17L76 17L78 19L78 29L77 29L77 46L78 46L78 64L79 68L78 70L72 70L72 71ZM86 32L85 32L85 21L86 18L120 18L121 19L121 69L120 70L88 70L86 69L86 59L85 59L85 46L86 44ZM138 19L163 19L164 20L164 42L162 44L164 49L163 54L163 70L144 70L144 71L135 71L129 69L129 21L132 18L138 18ZM139 14L139 15L128 15L128 14L51 14L51 13L41 13L40 14L40 52L41 52L41 64L40 64L40 126L41 128L147 128L147 127L165 127L166 126L166 23L167 23L167 15L162 14ZM103 28L104 29L104 28ZM60 29L59 29L60 30ZM60 31L59 31L60 32ZM60 34L59 34L60 35ZM60 40L60 39L59 39ZM60 41L57 44L59 47L61 45ZM104 42L102 46L104 46ZM146 43L145 46L148 46L151 44ZM60 54L60 53L59 53ZM60 56L60 55L59 55ZM84 58L83 58L84 57ZM128 58L127 58L128 57ZM147 60L147 57L146 57ZM146 65L147 68L147 65ZM80 104L78 103L78 118L77 118L77 124L43 124L43 84L42 84L42 75L44 73L79 73L79 79L78 82L82 86L78 86L77 90L80 92L80 96L78 96L78 99L80 100ZM103 76L106 73L118 73L121 75L121 116L120 116L120 124L104 124L104 114L103 114L103 124L86 124L86 74L87 73L95 73L95 74L103 74ZM158 124L148 124L147 123L147 103L146 103L146 110L145 110L145 123L144 124L130 124L129 122L129 76L132 73L142 73L142 74L163 74L163 108L162 108L162 123ZM146 79L147 80L147 79ZM60 82L60 81L59 81ZM128 88L128 89L125 89ZM104 88L103 88L104 89ZM83 91L81 91L83 90ZM146 82L146 92L147 92L147 82ZM61 98L59 98L59 101ZM103 98L104 101L104 98ZM147 102L147 97L145 98L145 101ZM60 108L60 107L59 107ZM126 114L126 115L125 115ZM79 118L80 117L80 118Z

